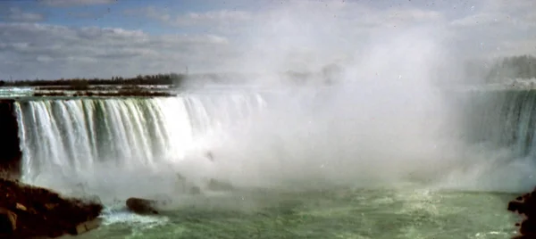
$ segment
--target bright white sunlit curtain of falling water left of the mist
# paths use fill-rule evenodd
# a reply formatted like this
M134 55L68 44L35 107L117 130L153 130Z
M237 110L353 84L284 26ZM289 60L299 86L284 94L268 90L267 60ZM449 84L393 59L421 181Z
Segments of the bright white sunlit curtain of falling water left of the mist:
M132 177L142 184L142 171L209 150L206 140L247 127L263 107L255 94L18 102L22 178L59 190L67 181L110 185L109 191Z

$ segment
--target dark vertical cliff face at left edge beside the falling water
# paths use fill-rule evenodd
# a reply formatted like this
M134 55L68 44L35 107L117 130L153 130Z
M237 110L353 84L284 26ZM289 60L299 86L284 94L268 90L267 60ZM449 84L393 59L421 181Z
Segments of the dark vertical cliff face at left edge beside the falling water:
M21 149L13 100L0 100L0 177L19 178Z

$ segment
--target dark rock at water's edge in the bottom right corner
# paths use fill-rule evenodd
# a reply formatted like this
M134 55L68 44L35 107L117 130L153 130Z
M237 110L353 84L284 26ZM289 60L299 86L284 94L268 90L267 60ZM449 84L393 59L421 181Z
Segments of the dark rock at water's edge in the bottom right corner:
M536 238L536 189L530 194L523 194L508 202L508 210L524 216L521 223L516 223L519 227L519 234L515 239Z

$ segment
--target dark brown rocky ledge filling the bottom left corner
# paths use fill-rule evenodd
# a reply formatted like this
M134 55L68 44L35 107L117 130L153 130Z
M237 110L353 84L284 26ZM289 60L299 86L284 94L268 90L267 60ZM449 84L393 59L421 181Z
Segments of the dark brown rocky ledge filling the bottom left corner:
M0 238L79 235L99 225L103 205L0 178Z

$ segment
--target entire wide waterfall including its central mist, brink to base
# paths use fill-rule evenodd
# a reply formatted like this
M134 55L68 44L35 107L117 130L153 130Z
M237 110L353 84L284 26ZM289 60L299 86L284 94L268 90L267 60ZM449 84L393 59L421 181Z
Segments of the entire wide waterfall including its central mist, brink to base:
M23 178L118 198L170 194L177 172L237 186L532 186L533 92L457 94L446 108L440 92L401 87L20 102Z

